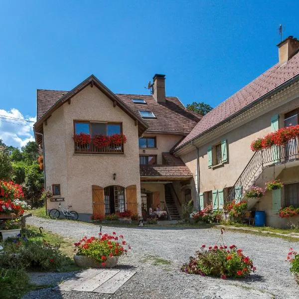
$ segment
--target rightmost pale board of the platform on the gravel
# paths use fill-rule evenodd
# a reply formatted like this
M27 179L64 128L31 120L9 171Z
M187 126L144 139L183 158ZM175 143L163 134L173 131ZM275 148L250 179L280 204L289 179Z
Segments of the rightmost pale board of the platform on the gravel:
M102 294L114 294L122 285L124 285L136 272L120 271L110 280L95 289L93 292Z

